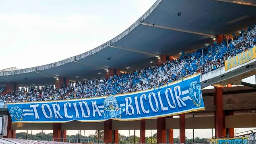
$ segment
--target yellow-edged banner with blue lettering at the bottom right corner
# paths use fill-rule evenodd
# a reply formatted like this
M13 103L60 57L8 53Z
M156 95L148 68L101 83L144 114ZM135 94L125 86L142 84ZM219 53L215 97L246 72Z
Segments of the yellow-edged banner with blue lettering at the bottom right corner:
M248 144L248 137L229 138L229 139L211 139L211 144Z

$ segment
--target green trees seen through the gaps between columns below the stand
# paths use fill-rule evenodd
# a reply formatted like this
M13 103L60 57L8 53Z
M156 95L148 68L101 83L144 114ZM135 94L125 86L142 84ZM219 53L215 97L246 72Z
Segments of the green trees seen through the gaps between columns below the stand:
M16 133L16 138L17 139L26 139L26 132L21 132L21 133ZM100 130L99 131L99 141L100 143L103 143L103 135L104 131ZM52 133L46 134L45 132L37 133L37 134L28 134L28 139L29 140L41 140L41 137L43 136L42 140L49 141L52 140ZM80 141L78 141L80 137ZM119 143L121 144L131 144L134 143L134 136L124 136L121 134L118 134L118 140ZM152 137L145 137L146 143L151 144L151 143L157 143L157 134L154 134ZM179 143L179 137L173 139L174 143ZM98 143L98 131L95 131L95 134L90 134L89 136L83 136L79 134L76 135L67 135L67 142L70 143ZM209 143L210 138L200 138L196 137L194 139L195 143ZM139 137L135 136L135 143L139 143ZM187 139L186 138L186 143L193 143L193 139Z

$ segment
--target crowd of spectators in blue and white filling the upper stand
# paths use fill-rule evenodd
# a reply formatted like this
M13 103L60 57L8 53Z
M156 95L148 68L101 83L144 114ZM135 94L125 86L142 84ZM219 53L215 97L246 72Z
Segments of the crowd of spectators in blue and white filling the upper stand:
M181 53L177 59L167 60L161 65L144 67L111 76L109 79L89 79L70 83L60 89L53 85L19 89L0 96L0 102L49 101L79 99L147 90L176 81L203 70L207 73L224 65L224 61L256 46L256 27L248 27L238 36L224 37L223 42L206 45L193 53ZM1 94L0 94L1 95Z

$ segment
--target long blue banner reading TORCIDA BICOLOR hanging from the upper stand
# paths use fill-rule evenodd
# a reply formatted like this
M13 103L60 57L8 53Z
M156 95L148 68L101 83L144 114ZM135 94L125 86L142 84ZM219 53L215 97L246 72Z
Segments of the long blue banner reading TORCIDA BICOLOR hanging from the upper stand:
M7 104L13 123L147 119L204 110L200 75L146 91L85 99Z

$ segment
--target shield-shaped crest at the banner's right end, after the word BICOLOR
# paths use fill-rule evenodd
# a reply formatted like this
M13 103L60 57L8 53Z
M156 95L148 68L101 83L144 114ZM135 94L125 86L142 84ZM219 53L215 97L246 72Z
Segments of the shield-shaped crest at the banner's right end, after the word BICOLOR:
M190 83L189 94L194 104L199 107L201 105L201 88L197 81Z

